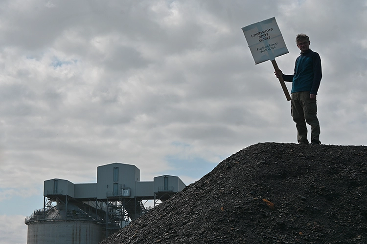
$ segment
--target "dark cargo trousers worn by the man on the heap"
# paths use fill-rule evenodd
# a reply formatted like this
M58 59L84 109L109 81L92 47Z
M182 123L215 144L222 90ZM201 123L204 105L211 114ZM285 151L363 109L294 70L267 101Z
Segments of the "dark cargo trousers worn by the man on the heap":
M292 93L291 113L296 122L297 141L300 144L308 144L306 122L311 125L311 143L320 144L320 123L317 118L316 99L310 98L309 91Z

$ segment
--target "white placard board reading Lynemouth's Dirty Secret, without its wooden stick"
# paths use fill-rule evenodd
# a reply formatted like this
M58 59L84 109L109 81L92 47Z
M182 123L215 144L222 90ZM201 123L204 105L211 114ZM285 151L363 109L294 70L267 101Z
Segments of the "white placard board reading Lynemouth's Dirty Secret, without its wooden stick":
M275 17L242 28L255 64L288 53Z

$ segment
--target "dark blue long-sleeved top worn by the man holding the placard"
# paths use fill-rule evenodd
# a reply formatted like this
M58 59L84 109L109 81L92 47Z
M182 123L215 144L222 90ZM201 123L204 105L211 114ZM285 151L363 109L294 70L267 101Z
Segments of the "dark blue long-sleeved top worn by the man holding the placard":
M319 90L321 73L320 55L308 49L301 53L296 59L295 73L284 75L284 81L292 82L291 93L300 91L310 91L310 94L317 95Z

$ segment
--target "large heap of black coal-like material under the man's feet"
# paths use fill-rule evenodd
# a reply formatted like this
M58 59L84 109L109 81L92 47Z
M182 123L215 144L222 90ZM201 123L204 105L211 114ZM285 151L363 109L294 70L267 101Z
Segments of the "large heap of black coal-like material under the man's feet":
M257 143L101 244L367 243L367 146Z

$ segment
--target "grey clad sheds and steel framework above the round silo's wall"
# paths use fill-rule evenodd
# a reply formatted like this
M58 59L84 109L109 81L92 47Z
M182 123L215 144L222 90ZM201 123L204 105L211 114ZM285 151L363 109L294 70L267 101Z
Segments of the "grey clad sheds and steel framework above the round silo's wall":
M144 206L148 201L153 200L156 206L185 186L176 176L159 176L152 182L139 182L138 178L137 167L113 163L98 167L97 183L47 180L44 183L43 209L35 210L24 222L29 225L47 221L92 221L100 224L102 236L108 237L148 212L152 208Z

